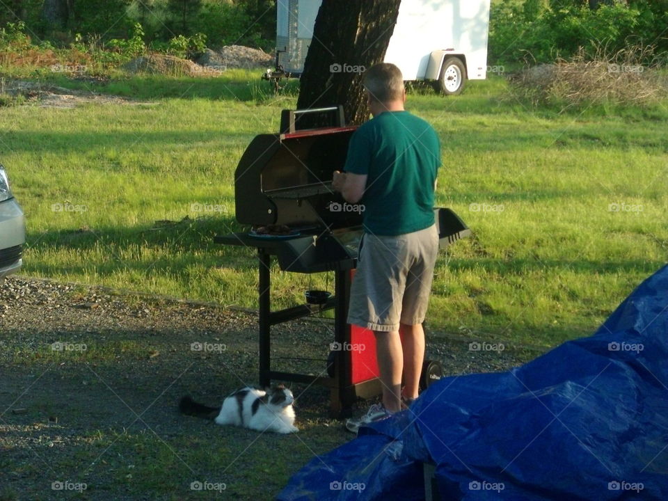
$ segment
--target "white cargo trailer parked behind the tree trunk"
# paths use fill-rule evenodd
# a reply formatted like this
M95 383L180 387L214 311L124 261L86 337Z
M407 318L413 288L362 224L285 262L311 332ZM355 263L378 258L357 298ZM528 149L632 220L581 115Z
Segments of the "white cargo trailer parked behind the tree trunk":
M385 62L399 66L407 81L434 81L445 94L461 93L467 79L486 77L490 1L402 0ZM276 2L276 70L264 78L299 77L320 4Z

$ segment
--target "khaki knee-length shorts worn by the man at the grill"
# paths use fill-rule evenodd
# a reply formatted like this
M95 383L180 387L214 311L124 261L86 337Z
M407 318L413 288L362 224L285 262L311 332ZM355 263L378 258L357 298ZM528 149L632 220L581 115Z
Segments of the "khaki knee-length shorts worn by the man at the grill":
M396 237L365 233L350 289L348 323L391 332L422 324L438 253L436 225Z

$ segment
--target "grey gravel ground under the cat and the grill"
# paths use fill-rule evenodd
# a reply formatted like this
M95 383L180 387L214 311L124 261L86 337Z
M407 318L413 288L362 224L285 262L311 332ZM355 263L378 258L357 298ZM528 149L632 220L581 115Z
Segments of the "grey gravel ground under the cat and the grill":
M326 319L292 321L273 333L274 360L294 355L294 347L299 356L324 359L333 337ZM514 347L470 351L469 341L430 333L427 358L441 360L447 374L466 374L507 369L537 354ZM192 343L208 343L208 351L193 350ZM324 364L278 360L276 368L317 373ZM13 277L0 286L0 381L0 500L59 499L50 484L74 478L97 486L88 499L137 499L116 488L129 460L109 457L106 450L91 456L95 434L122 435L134 426L166 443L191 433L206 438L209 428L179 415L177 401L191 394L219 404L230 390L257 383L257 317ZM293 390L298 426L308 421L315 429L342 429L327 417L324 388ZM338 443L349 438L336 433ZM308 442L308 434L303 437ZM296 458L290 468L308 459Z

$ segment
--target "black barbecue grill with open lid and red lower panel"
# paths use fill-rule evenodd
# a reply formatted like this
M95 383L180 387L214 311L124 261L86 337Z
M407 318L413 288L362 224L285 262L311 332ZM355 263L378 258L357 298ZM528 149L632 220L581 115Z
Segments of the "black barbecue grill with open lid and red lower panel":
M301 129L306 114L324 123ZM310 122L312 123L312 121ZM279 134L260 134L250 142L234 174L236 217L255 231L216 236L219 244L257 250L259 285L260 385L271 380L318 383L331 388L331 413L349 414L357 397L381 392L373 333L347 324L349 291L362 236L362 212L331 188L335 170L343 170L348 143L356 127L344 125L342 106L285 110ZM466 237L470 230L450 211L435 209L440 245ZM280 225L280 234L258 228ZM296 273L333 271L333 296L271 311L271 259L281 270ZM364 351L335 351L333 370L313 376L271 369L271 326L334 310L333 346L365 344ZM331 375L330 375L331 374Z

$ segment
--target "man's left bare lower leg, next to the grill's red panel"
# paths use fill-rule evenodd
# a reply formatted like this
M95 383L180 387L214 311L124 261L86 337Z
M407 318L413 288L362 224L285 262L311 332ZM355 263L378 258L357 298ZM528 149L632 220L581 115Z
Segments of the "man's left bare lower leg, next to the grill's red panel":
M404 355L401 353L399 331L379 332L376 335L376 359L383 383L383 405L391 413L401 411L401 372Z

